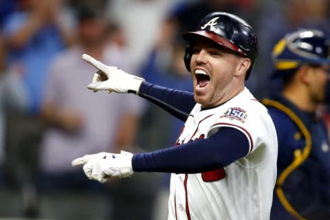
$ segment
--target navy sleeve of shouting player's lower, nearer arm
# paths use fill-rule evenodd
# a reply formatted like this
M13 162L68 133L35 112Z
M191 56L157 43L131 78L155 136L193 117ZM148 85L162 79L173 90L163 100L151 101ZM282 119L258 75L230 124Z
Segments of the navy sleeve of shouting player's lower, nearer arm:
M136 172L201 173L228 166L248 154L248 137L238 129L221 127L203 140L133 155Z

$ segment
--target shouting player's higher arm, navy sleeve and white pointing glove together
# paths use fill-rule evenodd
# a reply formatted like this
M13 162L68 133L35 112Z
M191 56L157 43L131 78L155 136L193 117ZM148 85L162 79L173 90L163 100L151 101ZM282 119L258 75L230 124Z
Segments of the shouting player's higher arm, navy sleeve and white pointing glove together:
M87 86L93 91L137 94L162 107L179 120L186 120L192 107L196 104L193 94L190 92L147 83L144 78L127 74L117 67L104 65L87 54L83 54L83 60L97 69L92 83Z

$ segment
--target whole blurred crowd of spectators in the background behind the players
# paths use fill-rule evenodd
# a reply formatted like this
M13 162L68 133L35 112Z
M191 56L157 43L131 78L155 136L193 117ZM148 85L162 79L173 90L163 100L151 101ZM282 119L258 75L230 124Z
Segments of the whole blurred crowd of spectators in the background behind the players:
M0 1L0 218L167 219L168 175L102 185L71 166L84 154L172 146L182 126L132 94L88 91L95 69L82 54L192 91L181 32L231 12L259 34L247 87L262 99L278 86L269 80L276 41L297 28L330 34L329 9L328 0Z

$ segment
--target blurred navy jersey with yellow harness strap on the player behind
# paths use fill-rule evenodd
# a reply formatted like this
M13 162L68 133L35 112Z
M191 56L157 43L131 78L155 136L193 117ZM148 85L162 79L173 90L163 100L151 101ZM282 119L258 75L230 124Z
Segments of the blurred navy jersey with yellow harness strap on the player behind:
M322 115L281 94L263 100L278 135L271 219L330 219L329 133Z

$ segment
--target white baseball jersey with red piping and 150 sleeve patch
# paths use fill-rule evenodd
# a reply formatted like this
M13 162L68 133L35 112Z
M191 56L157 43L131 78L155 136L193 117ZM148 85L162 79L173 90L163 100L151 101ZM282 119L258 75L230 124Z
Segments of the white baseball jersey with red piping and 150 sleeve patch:
M276 182L276 130L267 109L247 88L213 109L201 111L201 105L196 104L177 143L208 138L222 126L246 135L250 142L248 155L219 170L173 173L169 220L270 219Z

